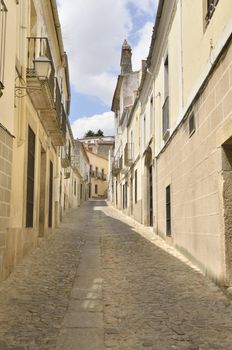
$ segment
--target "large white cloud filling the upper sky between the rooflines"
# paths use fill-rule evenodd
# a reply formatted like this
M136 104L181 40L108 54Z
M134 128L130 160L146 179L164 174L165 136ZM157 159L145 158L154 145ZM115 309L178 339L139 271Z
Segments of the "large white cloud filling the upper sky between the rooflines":
M128 4L133 4L139 12L153 14L156 3L157 0L59 0L70 78L78 92L111 104L121 45L133 31ZM137 46L132 48L136 69L147 56L150 29L152 24L145 24L139 32Z

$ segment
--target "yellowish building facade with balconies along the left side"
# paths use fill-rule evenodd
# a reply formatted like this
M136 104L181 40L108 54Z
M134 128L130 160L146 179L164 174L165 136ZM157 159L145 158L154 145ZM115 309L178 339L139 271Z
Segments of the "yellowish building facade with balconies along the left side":
M59 225L64 211L79 204L77 183L82 176L73 162L68 59L56 1L1 0L0 10L4 279Z

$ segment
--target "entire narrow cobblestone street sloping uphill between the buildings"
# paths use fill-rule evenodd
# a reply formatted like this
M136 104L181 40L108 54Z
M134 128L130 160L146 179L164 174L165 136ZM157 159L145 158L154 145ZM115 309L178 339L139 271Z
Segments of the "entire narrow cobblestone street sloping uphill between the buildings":
M89 201L0 284L0 350L232 349L231 301Z

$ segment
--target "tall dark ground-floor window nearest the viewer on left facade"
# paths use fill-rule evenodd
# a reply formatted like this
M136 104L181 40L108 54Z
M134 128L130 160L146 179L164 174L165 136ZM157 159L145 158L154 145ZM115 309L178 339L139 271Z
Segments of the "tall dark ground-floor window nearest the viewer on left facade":
M35 134L28 127L26 227L33 227L35 182Z

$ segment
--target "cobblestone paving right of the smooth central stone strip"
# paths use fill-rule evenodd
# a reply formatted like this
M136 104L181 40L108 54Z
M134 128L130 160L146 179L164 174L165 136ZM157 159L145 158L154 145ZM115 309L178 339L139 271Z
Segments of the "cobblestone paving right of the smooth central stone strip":
M145 239L141 225L138 234L132 220L103 210L111 216L102 219L106 348L232 349L230 299L165 244Z

